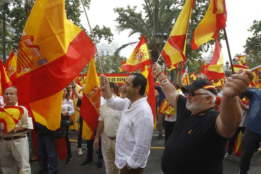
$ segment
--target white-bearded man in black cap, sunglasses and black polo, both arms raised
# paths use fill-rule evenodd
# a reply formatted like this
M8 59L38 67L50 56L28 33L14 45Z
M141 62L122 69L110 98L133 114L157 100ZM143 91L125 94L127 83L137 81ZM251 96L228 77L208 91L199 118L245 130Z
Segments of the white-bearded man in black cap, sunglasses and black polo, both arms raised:
M246 75L241 75L242 72L240 69L227 79L219 112L212 109L216 99L212 83L205 79L195 80L191 85L181 87L186 95L183 97L161 73L161 66L154 63L153 73L177 110L176 125L163 153L161 167L164 173L223 172L228 138L242 118L237 95L244 92L253 79L251 71L245 71Z

